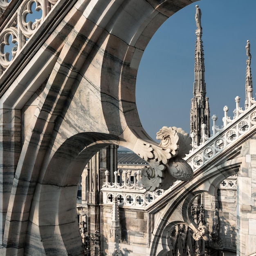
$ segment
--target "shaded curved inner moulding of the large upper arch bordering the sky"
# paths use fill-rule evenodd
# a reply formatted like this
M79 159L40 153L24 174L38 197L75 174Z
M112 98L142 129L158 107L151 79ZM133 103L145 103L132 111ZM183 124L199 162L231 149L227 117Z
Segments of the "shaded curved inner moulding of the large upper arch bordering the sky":
M136 3L135 3L136 2ZM121 4L121 11L115 17L115 23L110 22L110 35L105 42L103 69L101 72L101 99L104 116L120 116L121 130L126 125L136 127L140 136L146 134L141 128L141 122L135 103L135 83L137 68L144 49L155 31L173 13L190 4L190 1L130 1ZM143 15L140 10L143 9ZM132 17L132 22L127 17ZM125 29L127 27L127 29ZM121 45L121 47L119 47ZM110 78L110 79L109 79ZM108 124L111 133L117 126ZM137 132L138 134L138 132ZM146 139L152 140L148 135Z

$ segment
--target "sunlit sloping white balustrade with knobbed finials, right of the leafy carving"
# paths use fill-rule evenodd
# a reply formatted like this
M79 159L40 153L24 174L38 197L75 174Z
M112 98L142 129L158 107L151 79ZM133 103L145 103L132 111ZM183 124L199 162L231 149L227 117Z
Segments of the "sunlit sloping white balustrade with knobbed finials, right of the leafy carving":
M236 97L236 109L234 117L228 117L228 107L224 107L223 126L219 128L216 125L217 117L213 115L213 135L207 137L204 132L205 126L202 126L203 137L202 143L198 146L195 144L194 135L192 137L193 149L184 159L191 165L193 171L203 166L206 162L213 159L223 149L233 144L237 139L242 137L246 132L256 125L256 101L252 98L252 88L248 90L248 105L243 110L240 108L240 97Z

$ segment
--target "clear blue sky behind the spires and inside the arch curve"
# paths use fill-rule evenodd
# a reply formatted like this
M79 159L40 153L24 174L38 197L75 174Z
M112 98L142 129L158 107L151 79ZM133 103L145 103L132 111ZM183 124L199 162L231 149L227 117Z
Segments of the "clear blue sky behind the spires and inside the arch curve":
M137 74L139 117L153 139L162 126L190 132L196 4L202 11L206 96L210 115L218 116L219 126L225 105L233 117L236 96L241 98L240 107L245 105L247 40L251 43L253 79L256 75L256 0L200 0L181 9L150 40Z

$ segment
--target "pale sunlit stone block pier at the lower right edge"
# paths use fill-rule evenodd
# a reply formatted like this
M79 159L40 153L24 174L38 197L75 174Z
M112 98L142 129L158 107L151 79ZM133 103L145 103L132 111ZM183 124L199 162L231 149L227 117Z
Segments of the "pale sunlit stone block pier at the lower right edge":
M237 176L237 255L256 254L256 135L243 145Z

